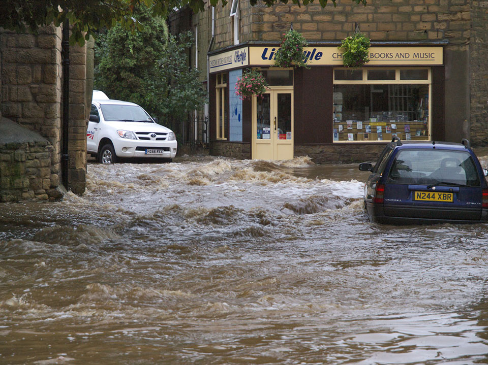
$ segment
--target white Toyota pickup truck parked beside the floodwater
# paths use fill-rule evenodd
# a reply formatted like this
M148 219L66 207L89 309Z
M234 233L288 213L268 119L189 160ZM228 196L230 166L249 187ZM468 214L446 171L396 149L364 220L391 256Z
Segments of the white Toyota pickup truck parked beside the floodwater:
M109 99L94 90L86 130L86 149L101 163L120 158L156 157L172 161L178 144L171 129L158 124L140 106Z

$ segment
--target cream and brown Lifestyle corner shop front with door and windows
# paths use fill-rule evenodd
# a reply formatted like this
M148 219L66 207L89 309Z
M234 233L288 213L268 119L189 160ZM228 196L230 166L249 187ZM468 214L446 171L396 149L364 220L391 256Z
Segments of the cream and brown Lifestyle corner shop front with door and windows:
M444 139L442 45L373 46L358 69L343 67L337 45L306 48L306 69L273 67L276 50L248 45L210 55L212 154L348 161L374 157L394 136ZM234 88L246 68L260 70L269 88L242 101Z

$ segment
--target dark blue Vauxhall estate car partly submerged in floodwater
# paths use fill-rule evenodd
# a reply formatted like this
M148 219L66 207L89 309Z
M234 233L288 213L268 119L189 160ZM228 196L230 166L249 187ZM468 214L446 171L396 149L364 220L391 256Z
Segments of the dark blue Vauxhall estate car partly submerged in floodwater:
M394 137L364 186L370 221L387 224L488 221L488 184L469 142L400 141Z

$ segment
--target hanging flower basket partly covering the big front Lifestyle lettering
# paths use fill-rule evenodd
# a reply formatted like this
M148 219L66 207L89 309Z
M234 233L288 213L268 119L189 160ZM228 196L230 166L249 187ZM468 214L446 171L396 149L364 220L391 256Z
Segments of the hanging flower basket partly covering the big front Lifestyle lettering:
M303 57L303 47L307 46L307 41L298 31L293 28L288 30L276 51L275 67L307 67L307 61Z

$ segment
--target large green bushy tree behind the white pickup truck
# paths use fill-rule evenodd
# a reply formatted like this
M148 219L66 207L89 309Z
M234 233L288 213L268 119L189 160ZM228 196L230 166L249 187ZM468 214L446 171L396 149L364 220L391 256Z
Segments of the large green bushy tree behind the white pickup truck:
M164 20L154 18L149 9L136 9L135 15L140 30L116 25L97 41L95 88L172 124L205 103L199 72L187 65L191 32L168 36Z

